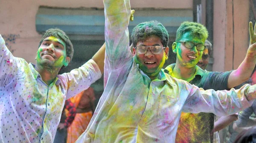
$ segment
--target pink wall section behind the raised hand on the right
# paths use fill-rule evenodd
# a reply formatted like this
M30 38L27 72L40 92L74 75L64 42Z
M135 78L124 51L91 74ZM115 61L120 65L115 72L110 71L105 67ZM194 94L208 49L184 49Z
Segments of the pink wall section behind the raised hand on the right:
M213 19L213 70L237 69L249 45L249 0L214 0Z

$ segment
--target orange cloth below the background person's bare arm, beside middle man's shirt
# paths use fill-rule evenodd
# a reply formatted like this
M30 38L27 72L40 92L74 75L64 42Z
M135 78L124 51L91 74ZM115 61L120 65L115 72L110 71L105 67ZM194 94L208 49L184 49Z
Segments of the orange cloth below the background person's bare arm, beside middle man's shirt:
M72 124L67 128L67 143L75 143L80 135L86 130L93 112L76 113Z

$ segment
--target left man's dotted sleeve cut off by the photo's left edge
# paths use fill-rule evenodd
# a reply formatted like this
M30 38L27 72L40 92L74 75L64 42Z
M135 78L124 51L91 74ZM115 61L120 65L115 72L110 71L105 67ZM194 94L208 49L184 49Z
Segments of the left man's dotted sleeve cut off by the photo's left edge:
M15 75L14 72L18 69L17 63L19 63L19 59L12 55L0 35L0 87L12 82L12 77Z

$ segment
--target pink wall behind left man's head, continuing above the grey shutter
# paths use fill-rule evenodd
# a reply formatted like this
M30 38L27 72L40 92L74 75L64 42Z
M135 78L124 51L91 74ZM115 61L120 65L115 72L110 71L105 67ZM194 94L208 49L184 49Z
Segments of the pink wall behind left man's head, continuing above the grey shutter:
M132 8L192 9L192 0L131 0ZM15 43L9 42L14 56L35 62L35 53L41 39L35 30L35 16L39 6L79 8L104 8L102 0L1 0L0 34L17 35ZM6 41L8 42L8 41Z

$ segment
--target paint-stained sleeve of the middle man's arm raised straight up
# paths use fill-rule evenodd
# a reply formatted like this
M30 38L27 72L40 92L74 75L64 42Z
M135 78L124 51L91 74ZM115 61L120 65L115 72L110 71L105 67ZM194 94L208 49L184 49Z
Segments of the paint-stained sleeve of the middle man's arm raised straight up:
M110 70L126 70L132 62L128 24L130 0L104 0L105 6L105 75ZM129 65L129 66L127 66Z

